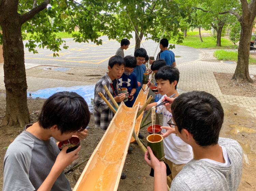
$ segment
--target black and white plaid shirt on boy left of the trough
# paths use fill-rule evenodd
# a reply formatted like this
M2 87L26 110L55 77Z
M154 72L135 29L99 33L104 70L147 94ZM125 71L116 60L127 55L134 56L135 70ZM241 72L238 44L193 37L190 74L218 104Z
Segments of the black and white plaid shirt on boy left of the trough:
M118 91L118 81L115 79ZM113 118L113 112L109 108L109 106L103 101L103 99L99 96L99 92L101 92L104 97L109 101L109 103L114 107L114 104L110 100L108 94L106 93L105 89L103 88L106 85L110 91L110 93L115 97L114 92L111 87L112 80L110 79L109 75L105 73L104 76L96 83L95 90L94 90L94 121L95 127L100 127L103 130L106 130L110 124L110 121Z

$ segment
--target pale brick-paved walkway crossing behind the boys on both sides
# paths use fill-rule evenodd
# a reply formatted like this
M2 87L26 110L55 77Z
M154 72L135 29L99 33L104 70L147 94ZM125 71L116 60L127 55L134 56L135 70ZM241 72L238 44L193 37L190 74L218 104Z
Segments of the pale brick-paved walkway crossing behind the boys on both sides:
M186 49L184 47L184 49ZM187 48L187 55L194 54L193 49ZM198 53L198 49L196 49ZM196 61L177 63L180 70L180 93L200 90L207 91L216 96L223 104L238 106L247 111L251 117L256 117L256 98L222 94L213 72L234 73L236 64L222 63L213 56L214 50L200 50L200 58ZM26 69L38 66L37 64L25 64ZM249 65L250 74L256 75L256 65ZM89 82L77 82L67 80L42 79L27 77L28 92L52 87L71 87L77 85L93 84ZM0 65L0 92L4 92L3 64Z

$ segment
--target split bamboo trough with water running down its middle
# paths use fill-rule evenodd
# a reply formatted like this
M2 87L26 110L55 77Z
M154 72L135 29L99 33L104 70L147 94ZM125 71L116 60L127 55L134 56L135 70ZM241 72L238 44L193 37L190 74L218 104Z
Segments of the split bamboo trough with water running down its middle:
M99 144L88 160L73 191L116 191L125 163L134 128L139 134L143 111L137 118L139 106L147 99L148 89L143 85L133 107L119 106ZM137 119L136 119L137 118ZM132 139L131 139L132 137Z

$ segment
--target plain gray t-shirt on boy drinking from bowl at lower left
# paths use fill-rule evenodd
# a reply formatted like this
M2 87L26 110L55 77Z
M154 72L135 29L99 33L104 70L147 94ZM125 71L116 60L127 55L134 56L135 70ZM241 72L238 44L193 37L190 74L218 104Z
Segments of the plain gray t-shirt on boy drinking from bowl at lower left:
M30 125L26 125L25 129ZM9 145L4 156L3 191L37 190L51 171L59 152L53 137L43 141L23 131ZM51 190L71 191L64 172Z

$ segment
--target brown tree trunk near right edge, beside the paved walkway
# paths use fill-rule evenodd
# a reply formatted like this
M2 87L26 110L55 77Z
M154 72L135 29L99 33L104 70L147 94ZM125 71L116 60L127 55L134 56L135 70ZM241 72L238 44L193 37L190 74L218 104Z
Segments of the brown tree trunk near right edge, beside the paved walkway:
M241 81L253 82L249 76L249 56L250 56L250 39L252 36L253 21L241 22L241 34L238 47L237 67L232 76L232 80L238 83Z

